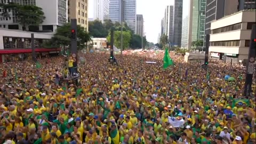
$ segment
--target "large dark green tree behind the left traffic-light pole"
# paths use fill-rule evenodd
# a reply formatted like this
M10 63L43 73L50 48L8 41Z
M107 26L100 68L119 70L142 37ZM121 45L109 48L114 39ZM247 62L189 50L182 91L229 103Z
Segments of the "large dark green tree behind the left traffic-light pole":
M85 43L90 42L91 37L86 32L84 27L77 25L77 49L82 50L85 48ZM47 47L55 46L68 46L71 43L71 25L70 23L65 23L62 27L58 27L56 33L51 38Z

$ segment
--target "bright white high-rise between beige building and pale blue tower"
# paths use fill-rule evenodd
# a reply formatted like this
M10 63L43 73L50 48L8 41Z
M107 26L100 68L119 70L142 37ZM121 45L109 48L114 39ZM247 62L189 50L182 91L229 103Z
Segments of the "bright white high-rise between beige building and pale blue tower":
M91 0L89 3L92 3L90 9L92 9L92 19L104 20L109 19L109 0Z

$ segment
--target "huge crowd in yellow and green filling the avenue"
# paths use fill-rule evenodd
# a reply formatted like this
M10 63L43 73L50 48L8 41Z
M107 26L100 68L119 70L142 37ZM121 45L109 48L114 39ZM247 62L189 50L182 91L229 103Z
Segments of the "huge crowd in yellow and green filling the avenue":
M63 57L1 64L0 143L255 143L245 69L210 61L206 72L170 56L175 66L163 70L163 53L115 55L118 66L109 53L79 54L79 85L56 81L71 67Z

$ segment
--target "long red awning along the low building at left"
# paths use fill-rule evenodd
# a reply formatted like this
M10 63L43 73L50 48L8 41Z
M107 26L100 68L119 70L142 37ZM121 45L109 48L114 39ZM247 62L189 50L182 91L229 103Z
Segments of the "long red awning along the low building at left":
M35 52L52 52L52 51L60 51L61 48L36 48ZM0 50L0 54L12 54L12 53L31 53L32 49L14 49L14 50Z

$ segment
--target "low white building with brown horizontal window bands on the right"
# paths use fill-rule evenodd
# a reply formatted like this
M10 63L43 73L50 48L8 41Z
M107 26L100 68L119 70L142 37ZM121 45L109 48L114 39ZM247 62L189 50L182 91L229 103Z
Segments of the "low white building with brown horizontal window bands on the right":
M255 14L255 10L239 11L211 22L210 57L234 63L247 59Z

